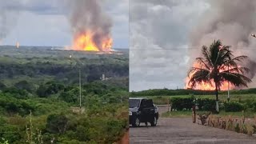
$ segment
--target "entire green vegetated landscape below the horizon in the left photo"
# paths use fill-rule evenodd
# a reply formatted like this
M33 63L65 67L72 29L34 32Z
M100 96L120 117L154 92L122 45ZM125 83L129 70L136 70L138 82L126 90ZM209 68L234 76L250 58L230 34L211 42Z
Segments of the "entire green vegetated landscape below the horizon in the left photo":
M89 58L80 55L69 60L62 58L65 51L29 52L35 58L0 56L1 144L114 143L122 138L128 129L125 56L85 54ZM68 57L70 52L65 53ZM84 64L75 64L78 60ZM82 71L81 110L78 68ZM110 79L102 81L102 74Z

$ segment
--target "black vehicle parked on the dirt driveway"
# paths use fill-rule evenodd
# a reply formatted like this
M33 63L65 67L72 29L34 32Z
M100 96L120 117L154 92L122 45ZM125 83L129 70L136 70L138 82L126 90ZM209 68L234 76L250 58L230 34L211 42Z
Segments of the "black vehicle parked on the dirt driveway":
M158 123L158 106L152 99L129 98L129 122L132 126L140 126L141 122L150 122L151 126Z

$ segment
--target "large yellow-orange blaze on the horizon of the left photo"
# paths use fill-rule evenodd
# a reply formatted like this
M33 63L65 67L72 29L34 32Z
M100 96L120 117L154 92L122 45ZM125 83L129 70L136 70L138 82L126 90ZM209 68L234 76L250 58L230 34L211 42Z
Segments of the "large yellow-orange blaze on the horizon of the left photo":
M86 51L111 51L113 39L110 37L102 38L102 42L98 43L94 42L94 34L91 31L86 31L74 38L73 48Z

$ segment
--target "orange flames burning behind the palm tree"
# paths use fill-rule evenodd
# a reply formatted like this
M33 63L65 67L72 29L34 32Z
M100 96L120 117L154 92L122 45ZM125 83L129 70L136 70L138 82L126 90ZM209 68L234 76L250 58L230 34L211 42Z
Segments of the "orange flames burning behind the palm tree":
M193 64L194 67L200 67L200 65L197 62L194 62ZM231 67L230 67L231 69ZM221 71L223 70L228 70L228 67L224 67ZM194 73L193 73L194 74ZM187 78L186 78L186 89L191 89L192 87L189 85L190 82L190 78L193 74L190 74ZM212 85L208 82L202 82L201 84L196 85L193 89L194 90L215 90L215 86L214 86L214 81L211 81ZM229 82L225 81L222 83L222 86L220 87L220 90L228 90L230 88L234 88L234 86L232 86Z

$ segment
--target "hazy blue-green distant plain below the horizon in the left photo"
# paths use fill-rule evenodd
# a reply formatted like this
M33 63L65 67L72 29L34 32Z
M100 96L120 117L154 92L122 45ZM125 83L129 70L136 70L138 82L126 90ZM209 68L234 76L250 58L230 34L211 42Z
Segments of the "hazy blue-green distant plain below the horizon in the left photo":
M0 46L0 80L7 86L27 81L34 87L58 81L78 83L78 69L82 84L104 78L117 85L128 86L129 50L114 52L65 50L56 46ZM125 79L125 81L123 81Z

